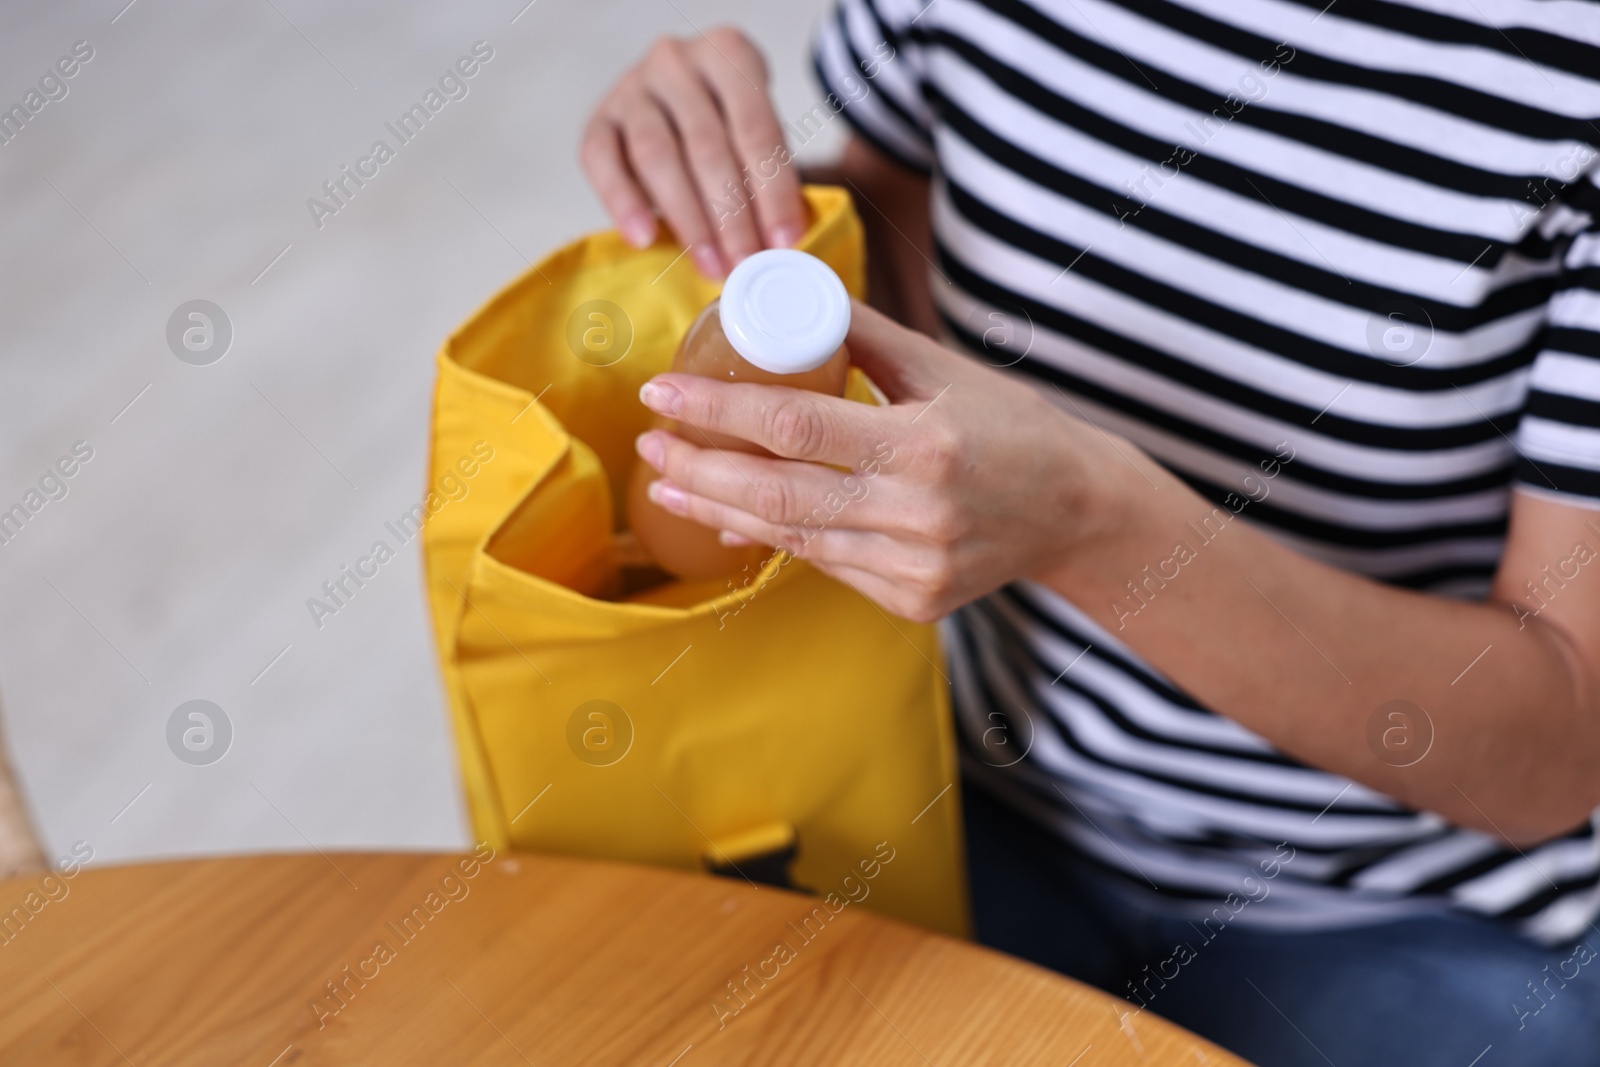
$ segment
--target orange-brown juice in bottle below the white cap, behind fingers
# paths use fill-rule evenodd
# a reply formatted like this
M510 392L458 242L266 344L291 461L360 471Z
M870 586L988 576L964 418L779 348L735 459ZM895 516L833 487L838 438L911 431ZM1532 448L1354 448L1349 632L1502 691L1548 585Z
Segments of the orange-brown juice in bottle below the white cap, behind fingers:
M845 376L850 371L850 354L845 346L816 370L798 374L773 374L739 355L722 330L718 301L706 306L678 346L672 370L680 374L701 374L728 382L755 382L758 386L789 386L810 389L830 397L845 395ZM699 448L754 453L771 456L760 445L738 437L709 434L675 419L658 418L654 429L672 430L685 442ZM752 571L773 553L766 545L725 545L718 531L691 518L680 518L650 499L650 483L661 475L645 461L637 461L627 485L627 515L634 536L661 565L662 569L685 579L720 577L738 574L749 566Z

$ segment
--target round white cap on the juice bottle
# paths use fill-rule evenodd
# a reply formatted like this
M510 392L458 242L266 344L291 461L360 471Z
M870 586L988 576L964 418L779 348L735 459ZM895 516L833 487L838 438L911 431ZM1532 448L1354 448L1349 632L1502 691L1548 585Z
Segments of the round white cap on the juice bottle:
M850 293L834 269L803 251L758 251L722 286L722 331L734 352L771 374L827 363L850 333Z

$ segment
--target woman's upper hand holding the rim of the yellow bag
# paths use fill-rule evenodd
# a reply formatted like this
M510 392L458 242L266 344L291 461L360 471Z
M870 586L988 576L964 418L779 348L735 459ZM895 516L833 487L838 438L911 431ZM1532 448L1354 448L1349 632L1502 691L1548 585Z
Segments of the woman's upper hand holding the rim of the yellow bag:
M766 61L731 27L651 45L590 115L579 158L624 240L650 246L659 214L707 278L805 232Z

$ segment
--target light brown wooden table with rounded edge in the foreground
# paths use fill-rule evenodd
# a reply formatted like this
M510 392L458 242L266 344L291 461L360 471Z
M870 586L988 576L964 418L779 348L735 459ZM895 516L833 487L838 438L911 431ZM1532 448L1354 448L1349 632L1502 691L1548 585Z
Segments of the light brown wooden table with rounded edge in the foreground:
M38 889L0 881L0 907ZM310 854L91 869L51 889L0 929L0 1064L1243 1062L859 905L802 929L818 901L723 878Z

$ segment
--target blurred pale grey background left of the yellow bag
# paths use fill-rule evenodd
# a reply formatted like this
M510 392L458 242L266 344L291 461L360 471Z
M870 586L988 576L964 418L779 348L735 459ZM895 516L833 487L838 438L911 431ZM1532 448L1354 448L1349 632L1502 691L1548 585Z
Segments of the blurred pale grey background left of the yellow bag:
M744 27L779 117L818 102L816 0L96 0L0 8L0 709L51 856L467 840L418 542L318 629L307 598L424 493L434 352L528 259L605 224L576 163L661 34ZM493 59L318 229L307 208L475 42ZM840 130L806 144L837 152ZM166 323L218 304L227 354ZM394 544L394 537L386 537ZM221 707L224 758L168 749Z

